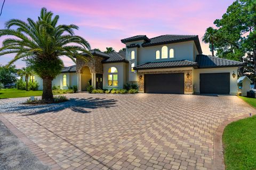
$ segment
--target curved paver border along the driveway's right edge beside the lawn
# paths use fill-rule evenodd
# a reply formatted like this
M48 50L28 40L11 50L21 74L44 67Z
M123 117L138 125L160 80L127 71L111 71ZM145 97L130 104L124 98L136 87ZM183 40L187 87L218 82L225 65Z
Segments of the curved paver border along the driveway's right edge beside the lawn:
M240 99L240 98L239 98ZM252 115L256 115L256 109L253 108L250 104L246 103L242 99L240 99L241 102L244 102L247 104L247 106L251 107L252 110L254 110L254 113L251 113ZM248 118L249 115L245 114L242 116L238 116L235 118L231 118L228 120L225 120L221 125L218 126L214 133L214 141L213 141L213 161L212 161L212 169L213 170L225 170L225 164L224 164L224 155L223 155L223 143L222 143L222 134L225 129L225 127L237 120Z

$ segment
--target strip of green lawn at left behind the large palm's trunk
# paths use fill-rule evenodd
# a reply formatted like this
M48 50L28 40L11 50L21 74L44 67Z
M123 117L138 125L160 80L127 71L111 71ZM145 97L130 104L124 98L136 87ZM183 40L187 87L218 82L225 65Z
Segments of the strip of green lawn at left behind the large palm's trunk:
M29 96L39 96L42 95L43 91L25 91L18 90L17 88L7 88L0 90L0 99L6 98L21 98Z

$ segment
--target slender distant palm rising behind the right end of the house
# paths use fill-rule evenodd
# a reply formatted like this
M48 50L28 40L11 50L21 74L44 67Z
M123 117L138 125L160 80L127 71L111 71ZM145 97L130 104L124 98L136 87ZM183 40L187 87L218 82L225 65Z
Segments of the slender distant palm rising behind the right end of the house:
M212 56L214 56L214 43L216 40L217 40L217 29L214 29L212 27L207 28L203 36L203 42L210 44Z

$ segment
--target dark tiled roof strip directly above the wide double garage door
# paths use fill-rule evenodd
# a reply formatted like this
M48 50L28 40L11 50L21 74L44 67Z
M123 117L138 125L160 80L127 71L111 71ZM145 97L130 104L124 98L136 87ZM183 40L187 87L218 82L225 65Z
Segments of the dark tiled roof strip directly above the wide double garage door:
M197 67L197 63L188 60L179 61L161 61L161 62L147 62L134 67L134 70L141 69L159 69L159 68L177 68L177 67Z

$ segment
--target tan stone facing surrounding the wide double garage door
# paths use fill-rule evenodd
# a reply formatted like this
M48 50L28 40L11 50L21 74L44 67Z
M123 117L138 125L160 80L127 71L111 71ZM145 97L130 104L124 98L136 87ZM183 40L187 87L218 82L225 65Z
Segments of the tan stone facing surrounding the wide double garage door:
M175 71L147 71L147 72L138 72L138 86L139 91L144 92L144 75L145 74L168 74L168 73L184 73L184 92L185 94L193 94L193 84L192 84L192 70L175 70ZM189 77L187 77L189 74Z

